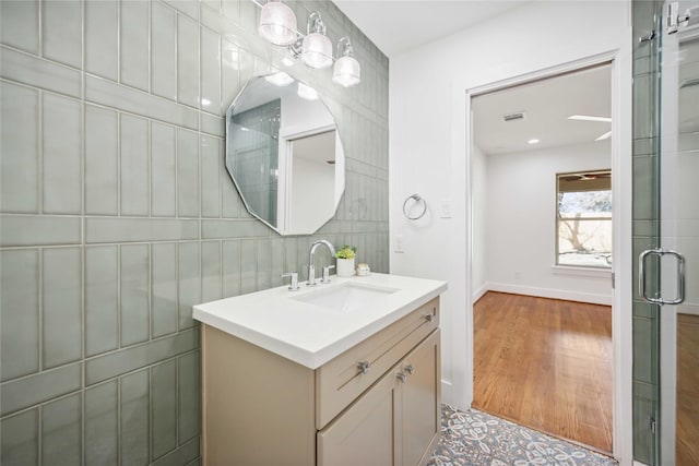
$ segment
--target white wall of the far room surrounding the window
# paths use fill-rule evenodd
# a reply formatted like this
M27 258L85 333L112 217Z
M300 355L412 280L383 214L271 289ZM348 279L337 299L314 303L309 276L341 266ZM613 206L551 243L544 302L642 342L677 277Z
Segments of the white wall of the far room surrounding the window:
M606 140L487 156L489 208L481 219L487 225L488 289L612 304L611 272L552 267L556 174L611 168L609 151ZM477 196L474 190L474 214L476 201L482 202ZM474 238L478 218L474 216Z

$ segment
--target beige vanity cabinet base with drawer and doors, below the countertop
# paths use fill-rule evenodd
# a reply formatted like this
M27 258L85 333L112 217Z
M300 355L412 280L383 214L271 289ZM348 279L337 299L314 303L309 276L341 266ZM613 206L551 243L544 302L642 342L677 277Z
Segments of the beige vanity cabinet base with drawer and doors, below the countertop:
M316 369L202 324L203 464L425 464L439 337L439 297Z

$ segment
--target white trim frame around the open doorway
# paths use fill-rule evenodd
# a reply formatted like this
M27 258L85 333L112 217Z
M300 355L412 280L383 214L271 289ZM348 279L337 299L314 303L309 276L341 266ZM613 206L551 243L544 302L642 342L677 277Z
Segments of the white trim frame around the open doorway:
M525 84L532 81L553 77L558 74L576 71L595 64L611 63L612 73L612 195L615 204L612 219L615 289L612 303L612 343L613 343L613 455L620 465L632 464L633 438L632 430L632 248L631 248L631 93L630 82L623 82L627 60L621 51L616 49L608 52L561 63L526 74L471 87L465 91L465 122L466 122L466 315L465 315L465 375L460 380L464 384L465 405L473 402L473 289L472 263L473 252L471 238L473 235L472 220L472 157L473 157L473 121L471 99L477 95L498 91L505 87ZM626 85L626 88L624 86ZM628 109L628 111L624 111Z

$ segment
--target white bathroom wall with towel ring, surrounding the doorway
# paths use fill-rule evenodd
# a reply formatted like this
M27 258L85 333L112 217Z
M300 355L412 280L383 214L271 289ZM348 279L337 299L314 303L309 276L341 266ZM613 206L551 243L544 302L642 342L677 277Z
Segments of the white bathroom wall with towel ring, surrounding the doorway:
M535 1L523 3L490 21L442 40L391 58L390 63L390 228L391 272L446 279L442 297L443 399L466 408L473 395L472 315L466 248L471 225L466 200L472 187L466 155L471 142L466 92L490 83L523 76L597 55L616 58L613 69L613 115L617 154L613 170L623 210L619 222L629 240L615 242L619 267L631 263L630 252L630 124L631 35L627 1ZM616 92L616 91L615 91ZM430 206L430 215L408 222L401 206L417 192ZM451 200L451 218L438 218L435 207ZM394 253L396 235L404 253ZM617 248L618 246L618 248ZM617 265L615 265L616 267ZM619 280L623 278L623 280ZM628 301L619 309L623 338L615 345L630 348L630 271L617 278L615 299ZM615 301L616 302L616 301ZM627 332L628 331L628 332ZM624 350L625 357L630 354ZM615 355L621 349L615 348ZM617 355L618 356L618 355ZM625 365L630 368L630 362ZM630 399L630 369L617 386ZM627 377L628 375L628 377ZM628 386L624 385L627 383ZM616 398L621 398L615 393ZM631 423L630 403L621 419ZM615 435L616 439L616 435ZM617 439L618 440L618 439ZM628 439L617 449L629 457ZM624 450L626 449L626 450ZM624 450L624 451L623 451Z

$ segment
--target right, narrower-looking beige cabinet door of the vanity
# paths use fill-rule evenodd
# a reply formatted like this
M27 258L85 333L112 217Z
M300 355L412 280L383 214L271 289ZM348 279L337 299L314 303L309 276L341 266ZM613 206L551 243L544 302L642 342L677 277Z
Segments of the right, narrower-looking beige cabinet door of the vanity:
M439 331L433 333L402 362L402 464L415 466L433 454L440 432L441 374ZM412 372L412 373L411 373Z

